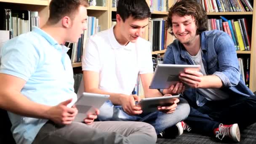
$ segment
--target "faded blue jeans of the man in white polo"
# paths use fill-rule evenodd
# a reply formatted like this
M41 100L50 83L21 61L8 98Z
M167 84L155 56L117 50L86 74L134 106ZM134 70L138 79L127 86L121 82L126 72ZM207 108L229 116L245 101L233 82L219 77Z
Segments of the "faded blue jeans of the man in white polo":
M140 115L128 115L124 112L122 106L115 106L111 101L105 102L99 109L100 114L98 120L100 121L141 121L146 122L155 127L156 133L164 131L176 123L184 120L189 115L189 104L183 98L179 98L180 102L176 107L175 112L166 114L164 112L142 113Z

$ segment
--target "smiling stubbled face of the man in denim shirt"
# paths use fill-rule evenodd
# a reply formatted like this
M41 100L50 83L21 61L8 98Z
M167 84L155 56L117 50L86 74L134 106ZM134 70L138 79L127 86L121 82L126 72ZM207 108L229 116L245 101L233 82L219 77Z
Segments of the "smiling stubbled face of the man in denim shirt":
M197 26L192 16L172 16L172 29L174 36L184 45L195 43Z

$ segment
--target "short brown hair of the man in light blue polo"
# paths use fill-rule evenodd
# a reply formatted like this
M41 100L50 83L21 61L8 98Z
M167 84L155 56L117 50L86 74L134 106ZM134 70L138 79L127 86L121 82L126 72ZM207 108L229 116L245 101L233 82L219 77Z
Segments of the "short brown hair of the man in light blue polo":
M72 19L80 5L84 7L90 6L88 0L51 0L48 22L56 24L66 15Z

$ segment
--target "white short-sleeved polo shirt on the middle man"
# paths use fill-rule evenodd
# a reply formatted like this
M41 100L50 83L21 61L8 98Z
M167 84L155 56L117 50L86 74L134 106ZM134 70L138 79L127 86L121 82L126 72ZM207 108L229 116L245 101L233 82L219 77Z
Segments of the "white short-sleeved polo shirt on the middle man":
M153 73L150 43L138 38L136 43L120 45L113 27L89 37L83 51L82 69L99 72L99 89L130 95L138 74Z

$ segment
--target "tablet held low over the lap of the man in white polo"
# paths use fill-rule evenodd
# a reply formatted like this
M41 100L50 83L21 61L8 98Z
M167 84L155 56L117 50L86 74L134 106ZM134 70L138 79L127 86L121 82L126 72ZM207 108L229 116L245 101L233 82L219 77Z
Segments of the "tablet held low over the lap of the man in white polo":
M144 113L155 112L158 110L158 106L170 106L171 104L173 104L176 98L179 98L179 95L144 98L139 101L137 106L141 107Z

